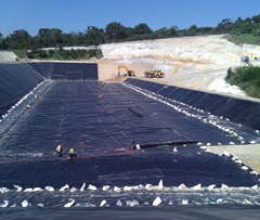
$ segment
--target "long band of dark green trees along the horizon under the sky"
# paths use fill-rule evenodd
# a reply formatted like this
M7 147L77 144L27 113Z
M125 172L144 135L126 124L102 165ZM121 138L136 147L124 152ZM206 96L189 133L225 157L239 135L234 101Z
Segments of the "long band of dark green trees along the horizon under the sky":
M217 34L250 34L260 37L260 15L246 17L245 20L238 17L235 21L224 18L216 27L197 27L192 25L186 29L171 26L170 28L162 27L152 30L144 23L132 28L125 27L118 22L107 24L104 29L88 26L84 31L72 31L68 34L63 33L58 28L40 28L35 37L30 36L25 29L18 29L5 38L0 33L0 50L38 50L40 48L98 46L109 42Z

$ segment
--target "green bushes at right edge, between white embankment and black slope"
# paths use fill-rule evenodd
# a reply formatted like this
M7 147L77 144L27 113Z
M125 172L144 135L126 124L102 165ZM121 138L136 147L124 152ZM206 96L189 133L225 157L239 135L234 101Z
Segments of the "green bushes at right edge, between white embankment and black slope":
M238 86L249 96L260 98L260 67L229 68L225 80Z

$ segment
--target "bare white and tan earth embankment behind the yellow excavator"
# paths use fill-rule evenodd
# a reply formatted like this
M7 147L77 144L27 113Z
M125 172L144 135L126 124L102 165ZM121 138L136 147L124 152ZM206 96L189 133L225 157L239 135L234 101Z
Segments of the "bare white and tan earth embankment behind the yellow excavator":
M143 78L148 69L161 69L161 83L245 96L237 87L225 83L229 67L242 65L240 56L260 57L260 47L229 42L224 35L170 38L100 46L104 57L99 63L101 80L118 75L125 65ZM257 64L257 63L256 63ZM123 69L121 74L126 74Z

